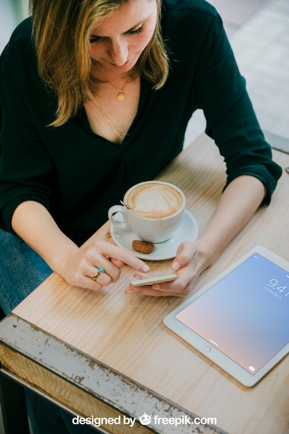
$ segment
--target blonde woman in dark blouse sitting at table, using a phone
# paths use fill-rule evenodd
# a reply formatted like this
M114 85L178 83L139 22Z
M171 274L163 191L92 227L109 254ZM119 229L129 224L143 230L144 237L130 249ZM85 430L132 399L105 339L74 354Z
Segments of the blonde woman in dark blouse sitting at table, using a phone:
M270 202L281 175L218 13L204 0L34 0L31 10L0 61L3 310L51 270L96 291L119 279L124 263L137 277L148 273L110 243L78 246L130 186L182 150L201 108L227 163L222 198L198 240L179 245L175 281L125 288L187 295Z

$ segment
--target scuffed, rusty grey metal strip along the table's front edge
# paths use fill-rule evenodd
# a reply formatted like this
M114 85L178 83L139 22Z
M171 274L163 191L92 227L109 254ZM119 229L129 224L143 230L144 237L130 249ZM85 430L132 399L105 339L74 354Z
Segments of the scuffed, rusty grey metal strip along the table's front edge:
M14 313L0 323L0 342L120 413L136 417L136 420L143 413L164 418L179 417L183 421L201 419ZM154 424L153 418L147 428L159 434L227 434L212 424L195 425L191 422L162 427Z

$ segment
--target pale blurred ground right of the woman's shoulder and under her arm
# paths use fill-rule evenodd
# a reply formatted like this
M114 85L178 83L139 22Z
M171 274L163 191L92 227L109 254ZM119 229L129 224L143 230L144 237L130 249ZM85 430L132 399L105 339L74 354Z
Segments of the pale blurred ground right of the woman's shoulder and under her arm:
M289 1L209 2L224 21L266 139L272 147L289 153ZM204 128L204 116L196 112L187 129L186 144Z

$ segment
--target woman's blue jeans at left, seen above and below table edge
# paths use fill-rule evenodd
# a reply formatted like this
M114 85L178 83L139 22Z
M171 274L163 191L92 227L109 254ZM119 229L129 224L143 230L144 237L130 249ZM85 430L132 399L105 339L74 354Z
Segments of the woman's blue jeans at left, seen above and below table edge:
M6 315L50 274L39 254L19 236L0 229L0 305ZM89 426L73 425L69 413L30 390L26 402L33 434L97 433Z

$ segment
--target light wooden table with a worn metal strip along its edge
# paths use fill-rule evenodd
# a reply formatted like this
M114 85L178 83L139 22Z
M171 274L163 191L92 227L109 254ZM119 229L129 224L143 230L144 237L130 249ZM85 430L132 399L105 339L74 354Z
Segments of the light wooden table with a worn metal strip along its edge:
M289 166L289 155L274 151L273 157L283 168ZM200 232L216 207L225 178L225 164L218 148L205 135L158 177L184 191L187 209L197 220ZM270 207L257 211L218 261L202 274L191 293L255 245L264 245L289 261L288 191L289 175L283 171ZM109 223L93 238L113 242ZM161 274L170 272L170 263L171 260L151 261L149 265L152 272ZM87 417L96 414L94 406L99 404L99 412L108 409L107 414L111 415L139 417L143 413L175 412L216 418L216 423L209 419L209 425L202 428L138 425L134 426L135 433L143 433L147 428L166 434L195 433L196 428L200 433L215 433L220 432L217 426L229 434L288 434L289 358L284 358L254 388L245 388L164 327L164 316L184 299L125 295L124 288L132 275L133 270L125 266L121 279L99 293L72 287L58 275L51 275L12 312L7 330L2 329L1 335L6 336L5 345L0 345L3 366ZM79 372L71 368L71 376L70 365L62 366L66 351L70 357L74 354L82 360L77 365ZM24 356L21 361L17 358L20 353ZM44 374L40 367L45 367ZM123 389L115 393L102 390L101 403L93 401L101 385L98 380L94 385L87 383L91 367L98 373L104 372L107 378L112 375L110 382L121 379ZM53 377L55 372L57 376ZM37 375L42 379L37 379ZM126 387L130 392L125 392ZM84 390L86 394L82 394ZM110 429L114 433L132 432L132 428Z

